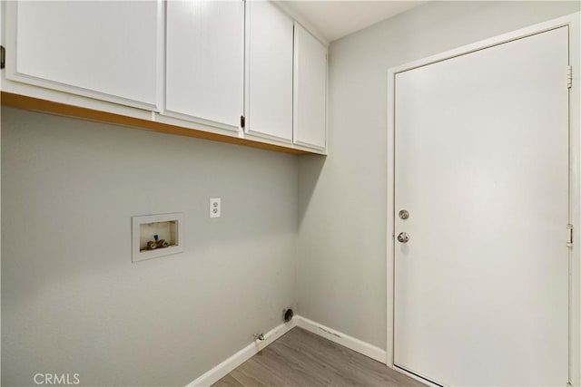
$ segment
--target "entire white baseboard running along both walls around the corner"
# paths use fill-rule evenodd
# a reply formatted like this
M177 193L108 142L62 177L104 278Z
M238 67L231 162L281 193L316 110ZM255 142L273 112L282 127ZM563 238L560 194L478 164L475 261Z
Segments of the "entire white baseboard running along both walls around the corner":
M273 343L276 339L281 337L281 335L286 334L295 326L300 326L303 329L306 329L313 334L318 334L321 337L324 337L331 342L338 343L340 345L346 346L351 350L364 354L371 359L377 360L380 363L386 363L386 352L379 347L371 345L369 343L362 342L355 337L351 337L349 334L342 334L334 329L331 329L328 326L323 324L315 323L314 321L309 320L308 318L301 317L300 315L296 315L291 323L281 324L274 329L272 329L269 333L264 334L264 340L254 341L244 348L242 348L237 353L231 355L228 359L224 360L222 363L216 365L212 370L205 372L194 380L190 382L186 387L202 387L202 386L210 386L215 382L218 382L224 376L226 376L229 372L233 371L236 367L241 365L241 363L246 362L256 353L259 353L262 349L266 346Z

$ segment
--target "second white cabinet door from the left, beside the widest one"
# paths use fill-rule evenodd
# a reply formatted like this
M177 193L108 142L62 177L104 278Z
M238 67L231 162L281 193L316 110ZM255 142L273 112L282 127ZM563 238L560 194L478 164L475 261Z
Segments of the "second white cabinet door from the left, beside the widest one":
M244 2L169 1L166 17L166 111L238 131Z

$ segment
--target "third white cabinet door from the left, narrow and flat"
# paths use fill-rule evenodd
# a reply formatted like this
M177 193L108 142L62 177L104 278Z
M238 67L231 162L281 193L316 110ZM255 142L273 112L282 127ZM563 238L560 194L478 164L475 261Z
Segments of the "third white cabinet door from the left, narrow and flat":
M271 2L247 2L246 132L292 140L292 28Z

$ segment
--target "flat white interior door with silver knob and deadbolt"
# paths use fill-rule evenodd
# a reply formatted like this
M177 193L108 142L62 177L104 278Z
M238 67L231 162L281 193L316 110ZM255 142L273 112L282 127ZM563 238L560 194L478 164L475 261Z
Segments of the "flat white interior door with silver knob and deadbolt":
M567 65L561 27L397 73L400 368L444 385L566 385Z

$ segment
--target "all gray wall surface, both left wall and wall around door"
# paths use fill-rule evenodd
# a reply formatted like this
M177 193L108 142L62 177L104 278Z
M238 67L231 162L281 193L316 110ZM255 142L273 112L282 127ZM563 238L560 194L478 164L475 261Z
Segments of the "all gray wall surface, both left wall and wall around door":
M578 9L430 2L334 42L326 159L3 108L3 385L184 385L297 297L385 348L387 69ZM131 217L178 211L186 251L132 264Z

